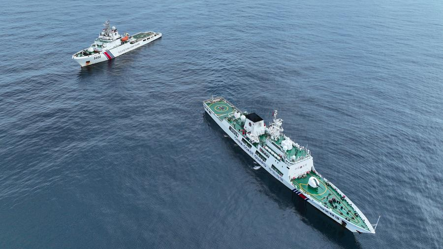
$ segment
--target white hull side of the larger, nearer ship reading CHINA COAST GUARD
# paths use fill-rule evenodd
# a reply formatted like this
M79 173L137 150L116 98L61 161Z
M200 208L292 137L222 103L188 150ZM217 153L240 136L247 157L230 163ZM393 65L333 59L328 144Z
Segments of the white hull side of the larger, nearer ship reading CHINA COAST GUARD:
M289 189L291 189L295 194L297 194L298 196L300 196L303 200L307 201L308 203L310 203L311 205L313 205L314 207L316 207L316 209L318 209L319 211L321 211L323 214L325 214L326 216L328 216L329 218L332 218L333 220L335 220L337 223L339 223L340 225L344 226L346 229L348 229L351 232L358 232L358 233L375 233L375 231L373 229L370 229L370 231L362 229L361 227L358 227L354 224L352 224L351 222L345 220L344 218L334 214L334 212L328 208L323 207L318 201L309 198L309 196L303 194L302 192L298 191L296 187L293 186L293 184L290 182L290 177L288 175L283 175L280 176L278 175L274 170L271 169L272 165L277 165L277 161L274 162L268 162L269 160L263 161L261 160L257 155L256 155L256 151L259 148L255 148L254 146L252 146L251 148L249 148L244 142L242 142L242 135L240 133L238 133L237 135L234 134L230 129L229 129L229 124L225 121L225 120L220 120L217 115L215 113L213 113L211 111L210 108L207 108L205 106L205 104L203 104L203 106L205 107L205 112L211 116L211 118L217 123L217 125L219 125L224 132L232 139L234 140L234 142L243 149L243 151L245 151L249 156L251 156L254 161L256 161L263 169L265 169L268 173L270 173L274 178L276 178L278 181L280 181L281 183L283 183L286 187L288 187ZM302 162L303 163L303 162ZM308 162L309 163L309 162ZM311 158L311 163L312 163L312 158ZM314 169L314 166L312 166L312 168ZM287 178L287 179L286 179ZM363 214L362 214L363 215Z

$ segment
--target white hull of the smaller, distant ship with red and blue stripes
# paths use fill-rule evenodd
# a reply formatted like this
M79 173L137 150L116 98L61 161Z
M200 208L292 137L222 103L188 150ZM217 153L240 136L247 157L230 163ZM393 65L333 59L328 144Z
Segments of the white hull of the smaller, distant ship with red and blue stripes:
M96 54L90 55L90 56L82 56L82 57L72 56L72 59L74 59L74 61L79 63L80 66L82 66L82 67L96 64L99 62L105 62L105 61L112 60L118 56L121 56L123 54L126 54L127 52L132 51L136 48L139 48L143 45L146 45L154 40L157 40L160 37L161 37L161 33L157 33L156 36L152 36L150 39L140 40L140 41L137 41L132 44L127 42L127 43L122 44L120 46L111 48L109 50L103 50L100 53L96 53Z

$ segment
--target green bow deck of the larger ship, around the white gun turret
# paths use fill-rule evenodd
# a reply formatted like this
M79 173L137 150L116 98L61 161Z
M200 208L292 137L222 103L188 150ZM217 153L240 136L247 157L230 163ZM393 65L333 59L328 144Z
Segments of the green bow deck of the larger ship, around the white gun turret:
M315 177L320 182L320 187L313 188L308 185L309 178ZM364 229L369 229L368 226L365 224L365 222L360 217L356 217L354 215L355 210L346 200L341 200L341 195L331 186L327 186L324 182L324 180L319 177L314 172L309 172L307 174L307 177L300 178L300 179L294 179L291 181L298 189L303 189L305 193L309 195L309 197L319 201L323 204L323 206L330 208L335 214L338 216L341 216L343 218L348 218L349 222L352 222L353 224L360 226ZM329 204L328 200L332 199L332 197L335 197L338 202L333 203L334 205L337 205L337 209L333 208L331 204ZM325 204L326 203L326 204ZM340 209L343 207L343 209ZM340 214L340 211L342 212L342 215ZM348 211L348 215L346 212ZM352 219L353 217L353 219Z

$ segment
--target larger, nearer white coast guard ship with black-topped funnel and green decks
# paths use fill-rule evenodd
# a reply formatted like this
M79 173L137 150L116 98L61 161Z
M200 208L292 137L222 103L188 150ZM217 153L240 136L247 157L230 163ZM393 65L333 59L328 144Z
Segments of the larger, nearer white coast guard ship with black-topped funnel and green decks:
M377 224L373 227L340 189L316 171L310 151L282 133L277 111L266 126L257 114L242 112L223 97L207 99L203 106L240 148L298 196L352 232L375 233Z

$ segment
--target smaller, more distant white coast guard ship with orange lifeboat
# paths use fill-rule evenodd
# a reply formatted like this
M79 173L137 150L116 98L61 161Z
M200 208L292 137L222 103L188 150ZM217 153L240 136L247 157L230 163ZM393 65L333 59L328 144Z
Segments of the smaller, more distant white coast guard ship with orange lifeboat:
M161 37L161 33L148 31L138 32L129 36L119 34L115 27L110 27L109 20L104 23L104 29L87 49L79 51L72 56L81 66L104 62L123 55L131 50L141 47Z

